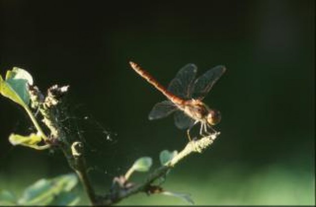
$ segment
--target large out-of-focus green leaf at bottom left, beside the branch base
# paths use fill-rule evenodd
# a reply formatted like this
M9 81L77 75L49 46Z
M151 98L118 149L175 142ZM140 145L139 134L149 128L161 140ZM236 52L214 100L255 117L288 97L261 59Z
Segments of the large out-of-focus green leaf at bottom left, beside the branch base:
M27 187L18 200L20 205L64 205L76 204L79 197L71 192L77 185L75 174L62 175L53 179L40 179Z

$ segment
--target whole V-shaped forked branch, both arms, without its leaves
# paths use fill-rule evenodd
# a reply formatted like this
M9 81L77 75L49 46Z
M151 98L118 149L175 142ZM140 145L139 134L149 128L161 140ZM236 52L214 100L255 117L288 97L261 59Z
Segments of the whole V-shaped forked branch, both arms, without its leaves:
M34 88L33 90L33 94L37 95L33 98L34 108L39 107L39 111L43 116L42 121L50 130L48 144L58 146L62 149L70 167L77 173L92 205L112 205L139 192L145 192L147 194L166 192L160 186L153 185L153 182L159 178L164 178L170 169L189 154L193 152L200 153L202 150L212 145L213 141L220 134L217 132L202 137L199 140L190 141L184 149L176 154L166 165L155 169L140 184L128 181L127 179L129 176L115 177L110 192L105 195L97 195L92 188L90 179L87 175L82 142L75 141L71 144L69 137L67 137L67 134L59 123L61 113L59 112L58 106L61 102L61 97L68 91L68 86L59 87L55 85L50 87L44 100L39 99L42 94L38 89Z

